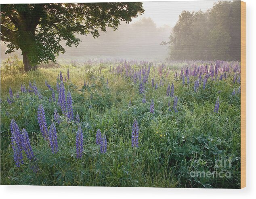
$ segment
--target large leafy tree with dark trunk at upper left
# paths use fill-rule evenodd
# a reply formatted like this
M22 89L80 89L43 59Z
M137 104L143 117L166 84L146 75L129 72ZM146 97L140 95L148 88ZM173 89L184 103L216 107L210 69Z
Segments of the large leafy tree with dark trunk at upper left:
M143 13L141 2L1 4L1 40L6 53L21 49L24 70L36 69L42 62L56 61L59 52L78 46L76 34L99 37L99 30L114 30L120 21L129 23Z

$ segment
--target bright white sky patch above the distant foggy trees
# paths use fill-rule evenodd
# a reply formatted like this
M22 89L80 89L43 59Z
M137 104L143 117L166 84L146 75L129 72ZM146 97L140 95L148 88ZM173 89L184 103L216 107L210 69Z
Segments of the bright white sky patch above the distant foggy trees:
M187 11L206 11L212 8L214 2L218 1L170 1L170 2L143 2L145 12L137 17L138 21L143 17L151 17L157 27L169 25L174 27L178 21L178 16L183 10Z

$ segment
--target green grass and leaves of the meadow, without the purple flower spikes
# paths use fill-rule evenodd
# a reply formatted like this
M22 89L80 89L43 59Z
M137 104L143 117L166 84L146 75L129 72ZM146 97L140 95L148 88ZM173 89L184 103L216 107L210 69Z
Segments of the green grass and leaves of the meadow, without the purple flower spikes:
M67 123L65 116L61 116L63 121L56 125L59 152L53 155L42 138L37 121L39 104L44 106L48 126L53 119L54 108L61 112L57 102L49 103L51 92L44 85L44 80L47 79L56 89L57 73L59 70L66 71L66 68L31 71L26 76L28 79L14 76L19 83L26 85L34 78L42 99L34 94L20 93L20 98L9 105L6 102L8 88L1 87L1 184L240 187L240 96L232 96L233 88L239 88L238 83L232 83L233 74L222 81L209 79L206 89L203 90L201 85L195 93L192 84L183 86L182 79L173 78L183 64L170 63L163 71L166 77L168 68L173 69L165 78L164 86L155 90L151 88L151 82L146 85L147 103L143 104L142 96L138 94L138 83L134 84L123 75L109 73L110 64L101 65L103 77L96 70L99 69L97 64L91 65L86 73L87 64L69 69L72 83L66 82L65 88L71 90L73 110L79 113L84 132L84 154L80 160L76 159L74 147L76 124ZM117 65L112 63L111 67L114 64ZM133 67L138 68L138 65ZM154 76L155 82L160 80L157 68L152 66L149 79ZM84 78L89 86L83 86ZM10 80L6 79L5 83ZM166 97L168 82L174 82L178 113L172 110L173 98ZM19 90L19 85L15 85L12 86L14 94ZM216 96L220 98L219 113L213 112ZM155 102L153 114L149 113L151 98ZM128 106L130 100L132 106ZM171 111L168 110L169 100ZM36 156L34 162L25 159L21 168L15 167L10 145L12 118L19 128L26 128ZM141 133L136 150L131 147L134 118ZM99 153L99 146L95 144L98 128L107 137L106 154ZM230 161L230 167L219 168L218 172L228 171L231 178L190 175L191 172L216 171L216 168L208 168L206 164L207 160L216 159Z

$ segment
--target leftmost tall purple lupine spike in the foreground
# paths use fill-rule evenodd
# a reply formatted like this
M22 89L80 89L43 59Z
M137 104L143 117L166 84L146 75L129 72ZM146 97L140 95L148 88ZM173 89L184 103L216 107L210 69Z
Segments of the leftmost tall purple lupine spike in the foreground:
M23 137L21 136L21 131L19 126L14 119L10 122L10 131L12 133L11 143L13 148L13 157L17 167L20 167L23 164Z

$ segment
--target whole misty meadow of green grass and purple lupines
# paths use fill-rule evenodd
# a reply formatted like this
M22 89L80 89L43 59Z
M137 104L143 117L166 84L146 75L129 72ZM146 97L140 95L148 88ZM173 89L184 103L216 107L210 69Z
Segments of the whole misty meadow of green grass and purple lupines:
M1 184L240 187L239 62L16 62L1 68Z

